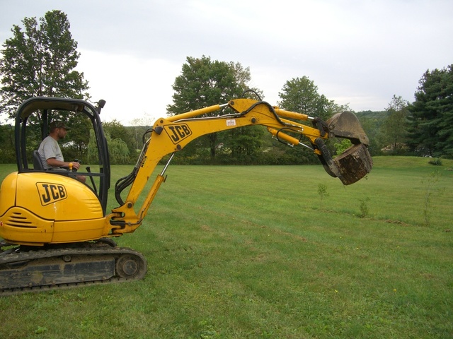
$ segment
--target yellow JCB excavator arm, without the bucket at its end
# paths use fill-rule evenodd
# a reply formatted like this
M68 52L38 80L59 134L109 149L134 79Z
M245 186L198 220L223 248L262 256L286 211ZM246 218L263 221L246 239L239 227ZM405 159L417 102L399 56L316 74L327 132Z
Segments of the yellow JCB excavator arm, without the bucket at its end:
M203 117L205 114L217 112L224 107L230 107L236 114ZM306 114L289 112L278 107L269 107L264 102L261 103L256 100L235 99L231 100L227 105L213 105L166 119L158 119L153 126L147 152L139 165L137 177L130 188L129 194L127 194L127 198L125 198L125 203L115 208L108 215L106 229L108 230L110 227L111 234L116 236L134 232L141 225L159 187L165 181L164 175L158 174L144 199L144 203L137 208L135 203L142 194L142 190L149 179L149 174L154 171L162 157L183 150L185 145L188 145L195 138L208 133L252 125L267 126L270 133L274 136L278 133L279 138L292 145L297 145L299 139L289 136L287 133L305 136L309 138L312 144L314 144L316 138L328 138L327 134L321 133L319 129L289 119L306 121L309 117ZM281 129L285 132L280 131ZM319 150L314 149L314 152L319 154Z

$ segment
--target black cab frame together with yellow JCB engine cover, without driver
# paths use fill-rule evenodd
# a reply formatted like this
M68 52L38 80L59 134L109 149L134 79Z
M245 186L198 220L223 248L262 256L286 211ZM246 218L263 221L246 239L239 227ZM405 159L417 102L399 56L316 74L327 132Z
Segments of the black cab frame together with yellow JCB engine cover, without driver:
M18 108L14 130L18 170L1 184L0 237L33 246L101 237L110 186L108 146L99 117L103 103L94 107L84 100L33 97ZM55 120L74 121L74 127L89 131L93 144L89 147L97 159L91 162L93 167L81 167L79 172L42 169L36 150ZM76 175L86 176L86 183Z

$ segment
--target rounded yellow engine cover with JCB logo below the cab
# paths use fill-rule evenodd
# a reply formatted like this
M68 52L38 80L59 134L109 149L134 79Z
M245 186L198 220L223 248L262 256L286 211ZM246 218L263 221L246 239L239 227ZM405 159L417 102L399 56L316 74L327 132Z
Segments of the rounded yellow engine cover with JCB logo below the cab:
M91 189L49 172L14 172L0 188L0 237L13 244L58 244L103 237L105 215Z

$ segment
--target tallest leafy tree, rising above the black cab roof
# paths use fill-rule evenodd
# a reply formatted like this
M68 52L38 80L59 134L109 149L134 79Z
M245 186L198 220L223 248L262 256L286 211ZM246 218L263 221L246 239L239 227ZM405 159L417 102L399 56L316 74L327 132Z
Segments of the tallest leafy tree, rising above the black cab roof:
M13 117L18 105L33 96L88 97L84 73L75 71L80 53L67 15L48 11L13 25L0 59L0 110Z

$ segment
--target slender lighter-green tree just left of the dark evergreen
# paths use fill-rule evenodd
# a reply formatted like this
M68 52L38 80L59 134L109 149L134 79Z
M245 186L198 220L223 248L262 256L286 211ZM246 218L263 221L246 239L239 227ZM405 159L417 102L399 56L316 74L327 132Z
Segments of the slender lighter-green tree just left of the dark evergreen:
M390 146L393 155L401 154L406 144L408 105L408 101L394 95L386 108L389 116L385 118L382 129L386 145Z

